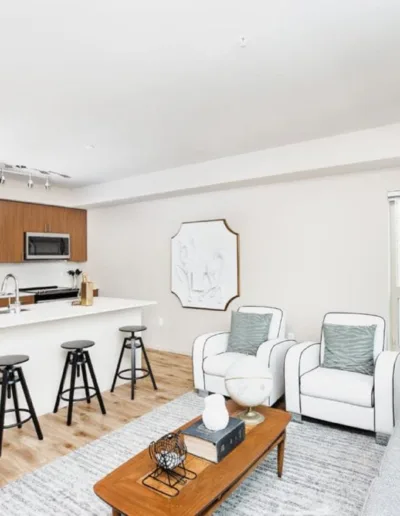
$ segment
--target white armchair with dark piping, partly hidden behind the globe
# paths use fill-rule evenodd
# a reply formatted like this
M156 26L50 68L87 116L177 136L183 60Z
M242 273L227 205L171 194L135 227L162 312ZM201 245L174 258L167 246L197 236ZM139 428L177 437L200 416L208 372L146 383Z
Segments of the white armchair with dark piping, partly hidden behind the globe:
M285 339L285 316L280 308L268 306L242 306L240 312L272 314L268 340L258 348L257 356L265 362L273 377L271 395L265 405L273 405L284 393L285 355L294 340ZM194 387L228 396L225 374L229 367L244 355L227 352L229 332L207 333L197 337L193 344Z

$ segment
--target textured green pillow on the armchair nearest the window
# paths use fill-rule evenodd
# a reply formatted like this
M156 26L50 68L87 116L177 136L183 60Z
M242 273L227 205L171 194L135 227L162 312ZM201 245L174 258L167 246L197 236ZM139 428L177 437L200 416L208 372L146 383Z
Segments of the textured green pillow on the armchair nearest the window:
M322 366L373 375L375 330L376 324L324 324L325 349Z

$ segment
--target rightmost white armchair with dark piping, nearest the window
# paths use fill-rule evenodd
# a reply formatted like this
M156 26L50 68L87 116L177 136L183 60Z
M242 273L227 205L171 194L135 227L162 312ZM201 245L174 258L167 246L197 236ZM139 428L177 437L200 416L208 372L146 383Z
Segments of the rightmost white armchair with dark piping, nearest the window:
M298 421L304 415L371 430L377 442L387 442L395 421L394 386L400 374L400 360L399 353L383 351L385 320L376 315L329 313L324 323L376 325L374 375L322 367L324 335L321 331L321 342L302 342L291 347L286 355L286 410Z

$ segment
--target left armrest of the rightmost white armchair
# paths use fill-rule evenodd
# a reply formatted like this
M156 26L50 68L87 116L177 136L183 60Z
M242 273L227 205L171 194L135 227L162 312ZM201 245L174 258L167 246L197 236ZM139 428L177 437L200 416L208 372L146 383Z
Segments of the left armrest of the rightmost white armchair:
M320 342L302 342L291 346L285 359L286 410L301 414L300 379L320 365Z

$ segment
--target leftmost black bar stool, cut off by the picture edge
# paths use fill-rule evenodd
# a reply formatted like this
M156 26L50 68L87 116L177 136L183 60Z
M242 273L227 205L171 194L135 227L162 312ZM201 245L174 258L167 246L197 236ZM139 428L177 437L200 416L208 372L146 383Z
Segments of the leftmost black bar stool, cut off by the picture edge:
M24 362L27 362L29 357L27 355L6 355L0 357L0 371L2 373L0 384L1 384L1 395L0 395L0 456L3 445L3 431L5 428L22 428L22 425L32 419L36 434L40 441L43 440L42 430L39 425L38 418L36 416L35 407L32 403L32 398L29 393L28 386L26 384L25 376L22 371L22 367L16 367ZM28 408L20 408L18 402L17 384L20 383L22 391L25 396ZM13 399L14 408L6 410L7 399ZM21 419L21 412L28 414L28 417ZM4 419L6 414L15 413L16 423L5 425Z

